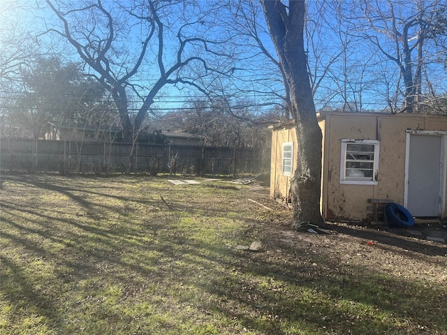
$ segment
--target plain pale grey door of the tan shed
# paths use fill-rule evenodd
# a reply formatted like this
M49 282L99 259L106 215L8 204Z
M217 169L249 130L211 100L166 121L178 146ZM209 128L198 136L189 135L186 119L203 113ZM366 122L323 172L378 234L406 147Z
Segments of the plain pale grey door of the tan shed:
M439 216L441 135L410 135L406 207L413 216Z

